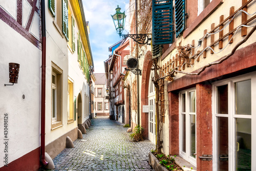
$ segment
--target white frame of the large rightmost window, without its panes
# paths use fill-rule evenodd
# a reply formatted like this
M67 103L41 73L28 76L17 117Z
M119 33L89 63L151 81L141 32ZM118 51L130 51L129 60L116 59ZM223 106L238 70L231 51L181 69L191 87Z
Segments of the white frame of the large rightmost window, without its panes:
M251 115L236 115L235 108L234 108L234 100L235 100L235 93L234 93L234 83L244 80L251 80ZM228 85L228 114L217 114L217 87ZM228 117L228 170L236 170L236 137L235 137L235 120L236 118L246 118L251 119L251 170L256 170L256 162L253 160L256 158L256 72L244 74L241 76L221 80L212 83L212 168L213 170L218 169L218 142L217 142L217 117ZM254 90L254 91L253 91ZM231 103L230 103L231 101ZM226 116L224 116L226 115ZM231 142L231 143L230 143Z

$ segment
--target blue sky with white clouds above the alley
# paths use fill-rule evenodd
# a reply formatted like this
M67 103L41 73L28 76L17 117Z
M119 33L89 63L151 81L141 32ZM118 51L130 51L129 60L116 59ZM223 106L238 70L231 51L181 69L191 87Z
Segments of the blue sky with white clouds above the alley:
M82 0L86 21L90 25L90 44L94 62L94 73L105 73L104 63L109 58L111 52L109 47L121 40L116 32L111 15L116 13L117 5L121 12L129 14L129 0ZM129 22L129 16L125 20L125 30ZM127 34L127 31L123 31Z

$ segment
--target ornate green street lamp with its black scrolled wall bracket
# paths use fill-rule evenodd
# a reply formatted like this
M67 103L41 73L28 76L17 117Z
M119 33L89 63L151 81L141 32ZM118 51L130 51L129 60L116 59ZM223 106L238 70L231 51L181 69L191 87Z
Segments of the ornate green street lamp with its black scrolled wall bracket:
M119 34L120 37L123 36L123 39L130 37L134 41L138 42L138 44L140 45L151 45L150 43L148 43L148 41L151 40L151 38L148 37L148 34L122 34L122 31L124 30L126 15L124 12L120 12L120 10L121 8L117 6L116 13L114 15L111 15L117 34Z

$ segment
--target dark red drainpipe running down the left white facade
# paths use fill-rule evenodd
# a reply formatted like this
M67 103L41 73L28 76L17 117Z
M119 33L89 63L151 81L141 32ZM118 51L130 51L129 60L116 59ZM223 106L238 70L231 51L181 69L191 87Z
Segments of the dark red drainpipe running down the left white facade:
M45 128L46 128L46 14L45 0L41 0L41 31L42 31L42 72L41 72L41 162L48 165L45 159Z

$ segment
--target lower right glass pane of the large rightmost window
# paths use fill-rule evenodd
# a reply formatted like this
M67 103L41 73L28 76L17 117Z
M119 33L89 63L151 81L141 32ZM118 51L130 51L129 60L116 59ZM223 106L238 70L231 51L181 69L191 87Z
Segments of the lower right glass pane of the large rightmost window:
M236 119L236 170L251 170L251 119Z

